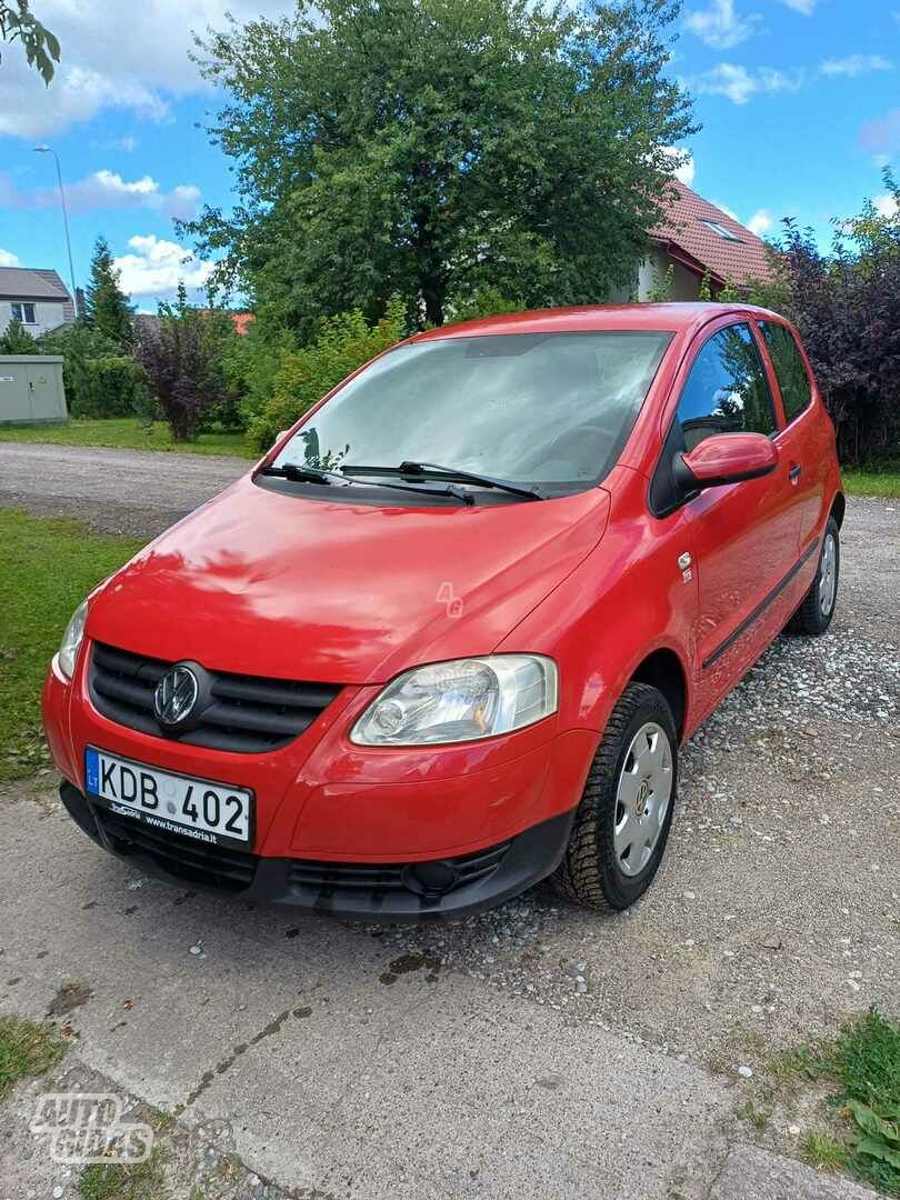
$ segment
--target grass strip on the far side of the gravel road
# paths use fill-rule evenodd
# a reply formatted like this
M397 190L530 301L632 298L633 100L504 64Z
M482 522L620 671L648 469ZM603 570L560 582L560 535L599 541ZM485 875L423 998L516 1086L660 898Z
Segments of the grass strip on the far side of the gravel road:
M31 442L42 445L118 446L125 450L163 450L181 454L259 455L242 433L202 433L196 442L173 442L169 427L155 421L148 430L134 416L102 420L72 420L68 425L0 426L0 442Z

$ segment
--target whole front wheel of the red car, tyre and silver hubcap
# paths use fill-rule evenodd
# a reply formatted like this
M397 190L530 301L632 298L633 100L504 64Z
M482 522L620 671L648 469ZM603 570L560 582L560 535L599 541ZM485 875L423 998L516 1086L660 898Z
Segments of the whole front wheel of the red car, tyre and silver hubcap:
M593 908L620 911L632 905L662 859L677 784L672 710L655 688L631 683L612 710L590 766L569 845L553 876L557 889ZM634 840L626 847L629 836Z

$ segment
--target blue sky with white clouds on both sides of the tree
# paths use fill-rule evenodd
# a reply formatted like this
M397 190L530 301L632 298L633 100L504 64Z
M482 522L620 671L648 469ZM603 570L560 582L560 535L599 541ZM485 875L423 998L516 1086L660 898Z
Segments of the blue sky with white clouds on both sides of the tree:
M152 311L208 265L179 245L173 216L229 204L228 164L198 124L216 95L188 59L191 31L288 11L288 0L34 0L60 37L49 89L20 49L0 62L0 265L68 278L49 142L71 210L78 282L98 233L134 302ZM80 8L80 11L79 11ZM671 71L703 128L683 172L761 234L782 216L811 226L882 206L881 168L900 158L900 0L686 0Z

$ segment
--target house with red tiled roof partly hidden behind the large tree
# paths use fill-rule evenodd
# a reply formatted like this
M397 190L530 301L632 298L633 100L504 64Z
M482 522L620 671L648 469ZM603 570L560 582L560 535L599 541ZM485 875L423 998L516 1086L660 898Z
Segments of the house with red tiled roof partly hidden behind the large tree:
M679 180L672 180L666 218L650 236L653 250L638 269L638 300L649 298L670 266L670 300L696 300L706 275L713 295L728 283L772 277L763 240Z

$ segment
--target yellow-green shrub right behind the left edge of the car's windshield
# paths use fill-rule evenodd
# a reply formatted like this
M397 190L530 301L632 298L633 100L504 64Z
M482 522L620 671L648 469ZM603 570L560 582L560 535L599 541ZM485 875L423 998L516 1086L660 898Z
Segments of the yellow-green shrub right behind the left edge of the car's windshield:
M342 379L398 342L404 334L406 301L391 300L384 317L370 324L359 310L322 322L312 344L284 354L275 394L250 425L251 442L264 450Z

